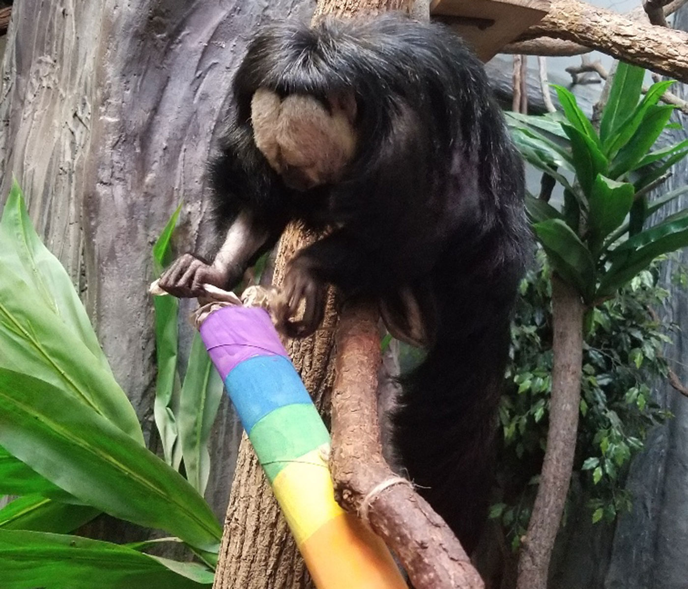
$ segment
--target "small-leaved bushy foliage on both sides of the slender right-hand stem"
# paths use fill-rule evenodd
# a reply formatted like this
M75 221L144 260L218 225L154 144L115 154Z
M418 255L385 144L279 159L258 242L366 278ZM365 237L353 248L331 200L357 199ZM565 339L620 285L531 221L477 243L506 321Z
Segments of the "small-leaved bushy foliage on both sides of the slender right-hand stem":
M662 348L671 329L649 311L669 295L657 276L654 265L596 307L585 340L574 473L594 522L612 521L630 507L623 488L630 459L643 448L649 429L669 415L650 391L655 379L667 376ZM521 293L499 410L501 496L491 513L514 548L526 533L549 427L552 309L550 268L542 250Z

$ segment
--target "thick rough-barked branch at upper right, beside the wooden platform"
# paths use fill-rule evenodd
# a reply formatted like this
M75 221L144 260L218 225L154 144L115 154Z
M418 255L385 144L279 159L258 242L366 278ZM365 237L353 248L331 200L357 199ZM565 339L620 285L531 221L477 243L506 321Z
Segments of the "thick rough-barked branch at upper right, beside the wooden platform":
M688 33L682 31L641 24L580 0L552 0L550 12L528 28L522 40L543 36L572 41L688 82ZM510 47L519 53L528 53L526 49Z

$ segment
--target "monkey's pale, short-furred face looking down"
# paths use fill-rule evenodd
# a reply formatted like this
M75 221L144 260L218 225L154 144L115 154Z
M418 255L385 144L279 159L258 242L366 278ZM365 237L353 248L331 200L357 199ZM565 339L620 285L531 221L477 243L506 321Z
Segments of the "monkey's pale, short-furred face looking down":
M261 88L251 100L256 146L284 183L308 190L337 181L356 149L350 109L334 104L332 113L300 94L283 100Z

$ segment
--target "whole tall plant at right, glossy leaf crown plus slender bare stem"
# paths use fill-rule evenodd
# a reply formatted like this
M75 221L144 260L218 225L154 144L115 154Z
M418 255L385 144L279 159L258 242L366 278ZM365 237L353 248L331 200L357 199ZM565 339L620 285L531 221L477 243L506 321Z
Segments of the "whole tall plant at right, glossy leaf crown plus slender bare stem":
M650 205L648 194L688 153L688 142L651 151L675 107L659 105L671 82L641 99L645 71L619 64L599 129L574 96L556 87L563 113L510 115L524 157L563 188L563 204L528 197L533 232L552 275L552 392L547 449L519 557L518 589L544 589L574 465L583 376L583 324L658 256L688 245L688 210L645 228L685 190ZM570 175L573 178L570 179ZM595 467L596 468L596 467Z

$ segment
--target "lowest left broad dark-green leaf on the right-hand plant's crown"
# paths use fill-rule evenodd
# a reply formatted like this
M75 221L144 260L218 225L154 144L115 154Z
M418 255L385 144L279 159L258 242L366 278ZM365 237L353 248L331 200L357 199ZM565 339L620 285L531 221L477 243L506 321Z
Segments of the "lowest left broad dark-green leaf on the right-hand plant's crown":
M533 230L544 247L552 267L574 286L585 300L594 290L595 269L588 249L561 219L535 223Z

